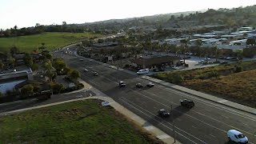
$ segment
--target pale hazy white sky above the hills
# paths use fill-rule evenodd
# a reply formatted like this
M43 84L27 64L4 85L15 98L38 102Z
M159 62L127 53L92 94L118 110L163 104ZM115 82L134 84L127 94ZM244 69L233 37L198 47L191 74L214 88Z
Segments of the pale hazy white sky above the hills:
M207 8L256 5L256 0L0 0L0 28L96 22Z

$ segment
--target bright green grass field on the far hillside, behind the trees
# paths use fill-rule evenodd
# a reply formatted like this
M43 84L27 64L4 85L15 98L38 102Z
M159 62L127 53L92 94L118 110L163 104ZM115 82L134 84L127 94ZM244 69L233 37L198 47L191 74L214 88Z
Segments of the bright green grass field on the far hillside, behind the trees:
M16 38L0 38L0 52L9 52L10 47L17 46L23 52L30 52L45 43L47 49L60 48L73 42L79 42L84 38L100 37L102 34L90 33L44 33Z

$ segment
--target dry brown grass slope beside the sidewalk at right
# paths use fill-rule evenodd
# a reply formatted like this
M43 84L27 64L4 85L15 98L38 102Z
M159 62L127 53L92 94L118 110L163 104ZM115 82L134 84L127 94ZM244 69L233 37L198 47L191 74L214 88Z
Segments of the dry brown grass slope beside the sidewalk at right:
M256 70L206 80L185 80L183 84L194 90L256 107Z

